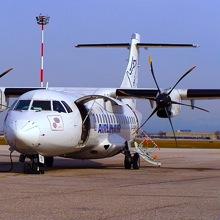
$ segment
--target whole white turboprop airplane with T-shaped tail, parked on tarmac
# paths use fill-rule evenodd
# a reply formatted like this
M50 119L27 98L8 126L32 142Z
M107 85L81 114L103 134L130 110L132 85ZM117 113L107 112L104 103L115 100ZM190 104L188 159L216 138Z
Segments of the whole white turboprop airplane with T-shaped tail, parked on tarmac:
M10 151L20 153L20 162L31 161L31 170L43 173L44 166L53 165L61 156L78 159L98 159L124 153L124 167L138 169L139 154L131 154L129 143L141 127L141 114L136 98L156 104L147 118L155 113L168 118L180 113L181 100L219 98L220 90L175 89L188 70L170 90L159 88L150 60L156 89L138 89L139 48L195 47L191 44L143 44L139 34L133 34L131 44L83 44L77 47L126 47L129 61L119 88L0 88L1 105L10 97L18 97L4 120L4 135ZM4 107L2 107L4 108ZM147 121L145 120L145 122ZM143 125L143 124L142 124ZM172 123L171 123L172 126ZM173 126L172 126L173 129Z

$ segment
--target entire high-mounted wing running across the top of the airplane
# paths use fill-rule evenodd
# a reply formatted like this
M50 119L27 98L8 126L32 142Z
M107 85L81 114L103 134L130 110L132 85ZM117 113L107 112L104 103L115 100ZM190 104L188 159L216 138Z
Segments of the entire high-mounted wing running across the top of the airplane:
M41 87L4 87L0 88L2 101L9 97L19 97L20 95L36 89L45 89ZM156 88L65 88L65 87L50 87L50 90L66 92L69 94L78 93L81 96L91 94L109 94L112 97L119 98L137 98L137 99L152 99L158 95ZM209 100L220 99L220 89L175 89L176 94L181 100ZM2 103L5 104L5 103Z

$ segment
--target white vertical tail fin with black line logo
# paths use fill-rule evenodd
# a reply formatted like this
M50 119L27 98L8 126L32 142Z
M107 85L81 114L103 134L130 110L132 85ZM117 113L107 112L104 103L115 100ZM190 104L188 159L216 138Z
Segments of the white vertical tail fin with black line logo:
M137 44L140 43L140 35L135 33L132 34L130 44L130 54L128 65L124 74L121 88L137 88L138 84L138 57L139 49Z

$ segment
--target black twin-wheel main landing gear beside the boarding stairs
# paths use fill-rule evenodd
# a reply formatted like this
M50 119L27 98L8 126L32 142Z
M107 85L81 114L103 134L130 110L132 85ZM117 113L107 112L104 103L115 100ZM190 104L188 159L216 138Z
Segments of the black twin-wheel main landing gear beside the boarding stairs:
M131 169L131 167L133 167L134 170L138 170L140 168L140 156L138 153L134 153L133 156L131 155L127 141L125 143L124 155L125 155L125 159L124 159L125 169Z

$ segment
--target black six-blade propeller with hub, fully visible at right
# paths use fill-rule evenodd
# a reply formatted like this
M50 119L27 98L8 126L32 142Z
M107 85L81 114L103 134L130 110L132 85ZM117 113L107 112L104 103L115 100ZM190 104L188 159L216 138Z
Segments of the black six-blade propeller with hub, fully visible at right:
M177 140L176 140L176 135L175 135L175 131L174 131L174 126L171 120L171 109L172 109L172 104L176 104L176 105L182 105L182 106L187 106L187 107L191 107L191 108L195 108L195 109L199 109L201 111L205 111L205 112L209 112L208 110L204 109L204 108L200 108L194 105L188 105L188 104L184 104L181 102L176 102L173 101L171 99L170 94L172 93L172 91L176 88L176 86L189 74L191 73L196 66L193 66L192 68L190 68L189 70L187 70L180 78L179 80L174 84L173 87L171 87L171 89L169 91L164 91L162 92L158 83L157 83L157 79L155 77L154 74L154 68L153 68L153 62L152 62L152 58L149 57L149 64L150 64L150 70L151 70L151 74L152 77L154 79L154 83L156 84L158 93L157 96L155 98L149 98L149 100L151 101L155 101L156 102L156 107L155 109L152 111L152 113L149 115L149 117L142 123L142 125L137 129L137 131L140 130L140 128L142 128L147 122L148 120L155 114L157 113L157 115L161 118L168 118L169 119L169 123L170 126L172 128L173 131L173 135L174 135L174 139L175 139L175 143L176 143L176 147L177 147Z

